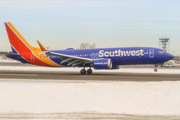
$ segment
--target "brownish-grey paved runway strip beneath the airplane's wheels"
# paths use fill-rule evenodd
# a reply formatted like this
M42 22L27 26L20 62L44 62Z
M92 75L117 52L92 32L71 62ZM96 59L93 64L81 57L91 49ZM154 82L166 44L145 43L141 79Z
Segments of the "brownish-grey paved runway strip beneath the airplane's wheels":
M101 80L101 81L177 81L180 74L148 74L148 73L93 73L81 75L67 71L0 71L0 78L10 79L58 79L58 80Z

